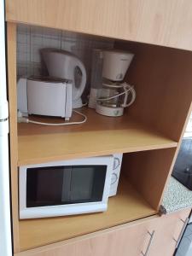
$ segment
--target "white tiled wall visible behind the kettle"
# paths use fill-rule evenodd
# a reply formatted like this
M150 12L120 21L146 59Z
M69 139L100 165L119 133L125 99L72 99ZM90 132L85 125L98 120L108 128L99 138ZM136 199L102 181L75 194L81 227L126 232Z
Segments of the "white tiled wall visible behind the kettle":
M18 76L44 74L39 49L46 47L65 49L77 55L84 62L89 86L92 49L113 48L113 40L46 27L20 25L17 28Z

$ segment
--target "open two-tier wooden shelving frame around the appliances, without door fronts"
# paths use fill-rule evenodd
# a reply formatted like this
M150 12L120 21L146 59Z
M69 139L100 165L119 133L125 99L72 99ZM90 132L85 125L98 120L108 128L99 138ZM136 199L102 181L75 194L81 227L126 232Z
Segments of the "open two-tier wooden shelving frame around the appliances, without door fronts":
M113 228L159 212L191 109L192 53L116 40L115 48L130 49L137 56L125 78L135 85L137 100L124 116L111 119L92 109L84 109L88 116L84 125L17 124L16 26L9 22L7 31L15 253ZM123 153L123 165L119 193L109 199L107 212L19 219L18 166L115 152Z

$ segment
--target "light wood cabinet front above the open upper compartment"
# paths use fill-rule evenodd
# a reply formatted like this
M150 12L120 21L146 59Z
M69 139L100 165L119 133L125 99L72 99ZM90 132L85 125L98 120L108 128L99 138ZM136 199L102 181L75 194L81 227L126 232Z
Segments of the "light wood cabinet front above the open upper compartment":
M192 49L190 0L7 0L6 19Z

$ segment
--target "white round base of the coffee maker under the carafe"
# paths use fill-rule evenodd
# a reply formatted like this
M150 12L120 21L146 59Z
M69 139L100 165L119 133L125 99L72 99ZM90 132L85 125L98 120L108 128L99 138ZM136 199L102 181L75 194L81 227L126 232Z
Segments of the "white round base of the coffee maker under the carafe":
M112 107L106 107L101 104L96 104L96 113L100 113L102 115L106 116L112 116L112 117L118 117L122 116L124 113L124 108L112 108Z

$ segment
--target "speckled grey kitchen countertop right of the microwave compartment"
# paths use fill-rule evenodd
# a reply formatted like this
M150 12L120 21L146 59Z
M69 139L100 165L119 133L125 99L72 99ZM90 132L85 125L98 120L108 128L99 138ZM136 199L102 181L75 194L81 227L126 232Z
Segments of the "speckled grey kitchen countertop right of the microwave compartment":
M162 206L166 213L192 207L192 191L184 187L174 177L171 177L164 194Z

